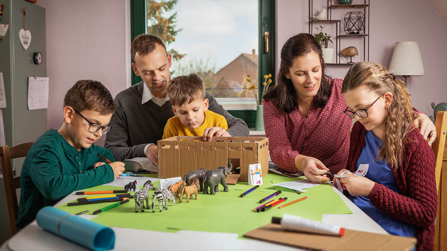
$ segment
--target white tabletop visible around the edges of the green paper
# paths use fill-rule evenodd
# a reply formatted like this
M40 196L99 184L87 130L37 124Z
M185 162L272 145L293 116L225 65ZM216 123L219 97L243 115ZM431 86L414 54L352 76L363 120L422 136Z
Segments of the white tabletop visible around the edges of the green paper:
M151 178L152 181L158 179ZM345 227L352 230L367 231L379 234L387 232L375 223L360 208L352 203L337 188L333 187L335 192L342 198L346 205L353 212L352 214L323 214L322 221L333 225ZM54 206L60 206L68 203L79 196L70 194ZM95 215L81 215L86 219L96 217ZM129 228L112 227L115 231L116 242L114 250L191 250L191 251L210 251L210 250L256 250L272 251L281 250L297 251L299 249L277 245L273 243L237 239L237 234L233 233L207 233L195 231L179 231L177 233L156 232L149 230L137 230ZM37 226L34 220L28 226L23 228L16 235L7 240L0 251L84 251L87 250L70 241L59 238L58 236L44 231Z

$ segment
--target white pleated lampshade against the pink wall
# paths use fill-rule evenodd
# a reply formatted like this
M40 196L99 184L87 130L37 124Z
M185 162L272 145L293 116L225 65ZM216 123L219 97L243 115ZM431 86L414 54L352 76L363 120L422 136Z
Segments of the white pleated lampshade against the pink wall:
M416 42L396 42L389 71L394 75L425 75Z

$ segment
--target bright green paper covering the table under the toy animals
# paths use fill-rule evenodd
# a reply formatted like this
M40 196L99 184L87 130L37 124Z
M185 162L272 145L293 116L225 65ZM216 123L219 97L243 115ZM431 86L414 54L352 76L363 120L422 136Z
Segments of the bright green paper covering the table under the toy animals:
M168 202L168 210L159 211L158 201L155 200L155 213L152 213L152 190L149 192L149 210L135 213L135 202L133 199L129 203L123 204L106 212L98 214L92 221L110 226L125 227L134 229L144 229L163 232L176 232L178 230L192 230L205 232L236 233L242 236L244 233L269 223L272 216L282 217L284 213L298 215L321 221L322 214L351 214L352 211L346 206L343 200L335 193L328 184L322 184L314 188L307 188L307 192L298 194L292 189L274 187L272 183L290 182L294 179L281 176L275 173L269 173L264 179L264 185L240 198L239 195L252 188L247 183L237 183L235 186L228 185L228 192L223 191L220 185L220 191L216 195L199 193L198 199L187 202L185 196L183 203L178 202L173 205ZM157 187L158 182L154 182ZM116 189L114 187L98 186L87 190L107 190ZM261 205L259 200L272 194L277 190L282 193L277 197L288 197L286 202L294 201L298 198L307 196L307 199L284 208L274 208L266 212L253 212L252 210ZM133 194L133 193L131 193ZM271 198L273 199L273 198ZM91 212L108 206L113 202L99 203L81 206L59 206L67 212L77 213L84 210ZM281 204L280 204L281 205Z

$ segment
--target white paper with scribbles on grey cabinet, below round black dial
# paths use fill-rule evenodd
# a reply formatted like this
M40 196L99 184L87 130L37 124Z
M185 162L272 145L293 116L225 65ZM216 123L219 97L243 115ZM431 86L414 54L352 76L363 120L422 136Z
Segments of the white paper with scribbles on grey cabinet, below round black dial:
M28 77L28 109L48 108L49 77Z

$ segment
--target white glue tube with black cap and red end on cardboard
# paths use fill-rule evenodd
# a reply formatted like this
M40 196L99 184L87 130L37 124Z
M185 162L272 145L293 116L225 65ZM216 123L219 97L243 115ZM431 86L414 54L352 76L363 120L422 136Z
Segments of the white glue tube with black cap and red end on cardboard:
M283 218L272 217L272 223L281 224L283 230L336 236L343 236L345 234L345 228L289 214L284 214Z

